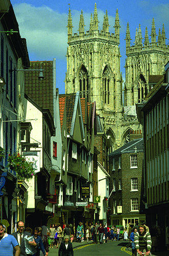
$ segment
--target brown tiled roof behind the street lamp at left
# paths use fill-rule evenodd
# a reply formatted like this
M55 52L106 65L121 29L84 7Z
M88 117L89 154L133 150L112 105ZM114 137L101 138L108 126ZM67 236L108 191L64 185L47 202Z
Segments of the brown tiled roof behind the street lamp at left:
M25 71L25 93L53 116L53 61L31 61L30 65L30 69L44 69L44 79L38 79L39 71Z

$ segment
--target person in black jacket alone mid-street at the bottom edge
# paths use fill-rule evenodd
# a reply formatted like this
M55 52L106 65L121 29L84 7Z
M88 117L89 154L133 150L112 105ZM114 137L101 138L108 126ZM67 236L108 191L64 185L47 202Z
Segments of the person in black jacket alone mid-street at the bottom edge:
M61 242L58 256L74 256L72 243L69 242L69 236L64 237L64 242Z

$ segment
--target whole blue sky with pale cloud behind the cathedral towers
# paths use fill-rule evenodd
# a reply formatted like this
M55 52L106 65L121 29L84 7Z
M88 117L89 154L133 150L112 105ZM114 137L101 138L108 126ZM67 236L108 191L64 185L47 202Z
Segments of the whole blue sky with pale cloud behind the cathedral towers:
M134 44L135 31L141 25L142 37L146 26L151 34L152 18L155 19L156 33L162 29L164 23L166 44L168 44L169 3L167 0L138 1L138 0L11 0L19 24L21 37L27 39L30 60L57 59L56 87L59 93L64 93L64 79L66 72L67 47L67 14L70 4L73 17L73 33L78 32L81 10L84 11L85 29L89 30L90 14L94 11L94 3L98 8L99 27L102 29L103 16L108 11L110 32L114 32L114 18L118 9L120 19L120 54L121 71L125 79L126 58L126 27L130 25L132 44Z

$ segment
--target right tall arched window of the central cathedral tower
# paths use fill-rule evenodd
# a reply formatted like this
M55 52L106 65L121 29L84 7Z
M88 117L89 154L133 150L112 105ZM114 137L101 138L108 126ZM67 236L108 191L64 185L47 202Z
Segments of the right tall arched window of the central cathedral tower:
M110 73L107 67L103 71L103 102L110 103Z

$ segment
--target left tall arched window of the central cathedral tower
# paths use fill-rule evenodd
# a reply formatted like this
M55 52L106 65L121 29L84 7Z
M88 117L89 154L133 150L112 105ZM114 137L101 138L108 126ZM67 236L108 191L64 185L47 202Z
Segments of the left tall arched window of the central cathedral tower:
M82 98L89 102L89 77L86 68L83 66L79 72L79 91Z

